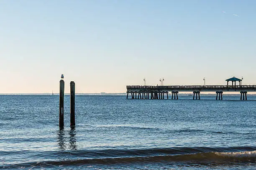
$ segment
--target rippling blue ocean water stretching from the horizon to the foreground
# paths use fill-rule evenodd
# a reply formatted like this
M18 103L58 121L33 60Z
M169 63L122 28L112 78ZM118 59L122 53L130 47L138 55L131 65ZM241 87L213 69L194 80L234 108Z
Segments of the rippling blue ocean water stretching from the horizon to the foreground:
M0 169L256 169L256 96L0 95Z

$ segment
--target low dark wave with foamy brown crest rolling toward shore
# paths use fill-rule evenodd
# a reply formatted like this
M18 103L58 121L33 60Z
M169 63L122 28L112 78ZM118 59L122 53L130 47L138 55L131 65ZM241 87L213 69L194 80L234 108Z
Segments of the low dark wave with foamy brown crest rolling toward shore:
M218 152L223 150L223 152ZM239 152L225 152L227 150L244 150ZM52 153L54 154L54 153ZM55 153L56 154L56 153ZM126 164L126 163L253 163L256 164L255 147L231 148L153 148L145 150L94 150L80 151L72 154L72 160L49 160L27 162L0 166L0 168L17 168L20 166L58 166L58 165L86 165L86 164ZM87 156L85 156L87 155ZM88 156L90 155L90 156Z

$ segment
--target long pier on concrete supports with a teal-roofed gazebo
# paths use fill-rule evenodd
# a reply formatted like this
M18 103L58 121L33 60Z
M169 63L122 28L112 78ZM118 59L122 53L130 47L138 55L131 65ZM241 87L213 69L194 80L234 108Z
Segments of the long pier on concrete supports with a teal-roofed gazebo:
M127 96L131 99L169 99L169 92L172 92L172 99L178 100L179 92L193 92L193 100L200 100L200 92L216 92L216 100L223 100L223 92L240 92L240 100L247 100L247 92L256 92L256 85L241 85L241 79L232 77L227 79L227 85L167 85L167 86L141 86L128 85ZM228 85L228 82L232 85ZM236 85L236 81L239 85ZM138 96L137 96L138 95ZM198 96L198 97L197 97Z

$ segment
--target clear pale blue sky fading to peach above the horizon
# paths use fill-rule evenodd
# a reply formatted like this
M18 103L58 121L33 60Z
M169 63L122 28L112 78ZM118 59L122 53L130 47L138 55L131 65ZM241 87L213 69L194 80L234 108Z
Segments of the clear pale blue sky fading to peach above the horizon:
M254 0L0 0L0 93L256 84ZM225 13L223 13L225 11ZM236 15L233 15L236 14Z

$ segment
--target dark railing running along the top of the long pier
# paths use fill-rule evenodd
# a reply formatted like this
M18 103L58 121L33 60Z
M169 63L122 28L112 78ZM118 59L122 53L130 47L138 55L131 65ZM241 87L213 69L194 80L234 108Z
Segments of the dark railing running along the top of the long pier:
M256 85L127 85L127 90L256 90Z

